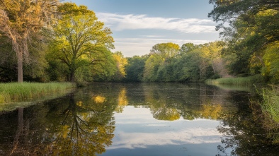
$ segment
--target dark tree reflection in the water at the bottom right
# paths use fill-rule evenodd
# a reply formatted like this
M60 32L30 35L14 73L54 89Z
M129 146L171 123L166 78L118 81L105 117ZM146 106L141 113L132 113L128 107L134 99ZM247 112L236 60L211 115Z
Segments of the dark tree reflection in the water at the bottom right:
M253 102L247 104L239 96L232 95L232 99L242 102L238 103L239 109L236 112L225 112L220 116L217 130L224 137L218 150L227 153L229 149L232 151L229 155L278 155L278 144L273 144L273 140L268 138L268 131L263 127L261 107Z

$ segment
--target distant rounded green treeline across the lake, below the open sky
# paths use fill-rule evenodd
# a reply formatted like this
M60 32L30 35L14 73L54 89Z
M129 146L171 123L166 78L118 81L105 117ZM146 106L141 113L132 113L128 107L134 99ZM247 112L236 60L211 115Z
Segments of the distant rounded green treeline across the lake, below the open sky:
M222 42L195 45L156 44L146 56L128 59L127 81L198 82L226 76L221 58Z

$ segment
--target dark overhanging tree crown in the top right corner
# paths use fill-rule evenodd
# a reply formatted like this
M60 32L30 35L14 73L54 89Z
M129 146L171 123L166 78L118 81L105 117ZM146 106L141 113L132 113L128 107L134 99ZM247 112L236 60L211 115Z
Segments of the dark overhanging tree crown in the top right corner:
M214 9L208 17L219 23L216 29L223 29L220 34L224 37L231 39L244 32L251 36L246 41L254 42L254 51L279 40L279 25L276 22L279 19L279 0L210 0L210 4L214 5ZM243 38L246 37L239 37L240 40Z

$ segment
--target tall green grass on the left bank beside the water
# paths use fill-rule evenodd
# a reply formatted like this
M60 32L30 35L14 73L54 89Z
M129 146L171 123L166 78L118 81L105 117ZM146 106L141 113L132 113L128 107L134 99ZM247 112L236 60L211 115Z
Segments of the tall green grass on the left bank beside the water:
M74 88L73 83L0 83L0 103L21 102Z

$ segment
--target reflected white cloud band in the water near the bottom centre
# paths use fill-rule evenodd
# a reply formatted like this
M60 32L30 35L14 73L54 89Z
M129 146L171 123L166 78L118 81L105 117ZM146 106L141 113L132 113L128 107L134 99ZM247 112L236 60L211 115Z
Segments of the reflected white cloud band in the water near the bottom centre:
M158 128L158 126L156 126ZM176 132L125 133L120 131L108 149L147 148L149 145L182 145L220 143L222 135L216 129L186 128Z

